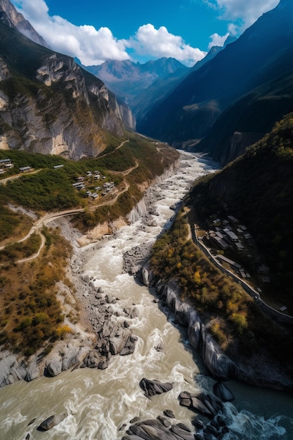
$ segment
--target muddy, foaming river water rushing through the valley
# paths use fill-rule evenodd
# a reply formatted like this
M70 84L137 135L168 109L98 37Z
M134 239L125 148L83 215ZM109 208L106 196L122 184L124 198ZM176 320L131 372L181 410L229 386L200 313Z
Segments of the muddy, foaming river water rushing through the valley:
M0 389L1 440L25 440L27 434L30 439L119 440L125 435L122 425L129 426L136 416L157 418L167 408L174 411L178 422L190 426L195 413L179 406L178 394L211 391L214 380L190 349L185 332L153 301L154 292L122 273L122 264L124 252L155 240L169 226L174 214L169 207L181 200L193 179L213 169L212 162L183 153L178 172L156 186L157 226L145 226L138 220L102 240L103 246L97 250L80 250L86 261L83 271L96 279L97 286L118 297L122 306L136 304L138 318L129 321L138 337L134 354L112 357L106 370L77 369ZM160 344L164 348L157 351ZM174 388L146 399L138 385L142 377L174 382ZM235 401L225 404L230 420L225 440L293 439L292 396L235 381L228 382L228 387ZM60 413L67 417L58 426L37 431L42 420Z

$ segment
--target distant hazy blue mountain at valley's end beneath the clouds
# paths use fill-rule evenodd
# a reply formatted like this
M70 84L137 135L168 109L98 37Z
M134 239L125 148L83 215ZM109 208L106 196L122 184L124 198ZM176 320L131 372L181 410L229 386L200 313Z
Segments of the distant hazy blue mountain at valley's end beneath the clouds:
M102 79L108 89L128 104L157 79L167 78L178 70L183 75L188 70L175 58L159 58L145 64L107 60L101 65L83 67Z

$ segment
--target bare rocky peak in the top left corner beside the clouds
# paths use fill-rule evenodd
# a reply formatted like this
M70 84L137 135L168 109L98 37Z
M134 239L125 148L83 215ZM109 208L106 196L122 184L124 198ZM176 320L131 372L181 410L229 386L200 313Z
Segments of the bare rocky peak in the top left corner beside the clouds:
M49 47L46 44L41 35L37 33L37 31L32 27L30 22L25 20L24 16L16 11L15 7L9 0L0 0L0 18L1 13L6 14L6 18L11 26L16 27L16 29L25 35L27 38L31 39L37 44L41 44L41 46Z

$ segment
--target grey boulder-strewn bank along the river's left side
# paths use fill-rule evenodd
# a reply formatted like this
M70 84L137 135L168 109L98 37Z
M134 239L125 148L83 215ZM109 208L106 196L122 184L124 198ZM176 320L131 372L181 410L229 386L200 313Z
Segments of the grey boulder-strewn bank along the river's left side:
M127 322L127 319L136 316L134 306L127 309L120 307L117 297L95 287L96 280L83 275L83 267L86 259L103 247L106 240L115 236L119 228L133 224L138 219L145 225L150 224L150 212L156 199L154 185L164 186L162 182L172 176L178 166L179 162L174 162L162 176L157 177L127 219L98 225L85 235L72 227L70 216L51 221L50 226L58 228L72 247L67 278L74 286L74 295L65 283L59 283L58 290L62 293L58 294L58 300L65 316L77 314L78 311L79 317L74 319L74 323L65 317L65 325L72 331L55 342L49 354L46 349L39 349L30 358L25 358L9 349L0 351L0 387L18 380L30 382L42 375L54 377L71 368L88 366L105 369L112 355L122 352L125 356L134 351L136 340L131 336Z

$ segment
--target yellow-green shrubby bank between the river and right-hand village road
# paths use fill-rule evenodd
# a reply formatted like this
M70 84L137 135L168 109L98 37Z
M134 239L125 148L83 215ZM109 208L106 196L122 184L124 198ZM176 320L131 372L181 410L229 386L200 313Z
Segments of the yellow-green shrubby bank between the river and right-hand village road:
M150 265L162 280L176 280L183 301L200 312L228 356L249 358L261 350L292 374L287 356L292 346L292 330L266 316L240 285L224 276L204 256L188 238L184 209L171 229L155 242Z

